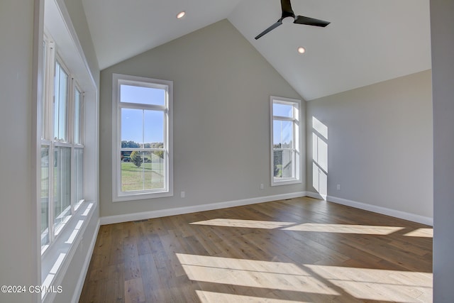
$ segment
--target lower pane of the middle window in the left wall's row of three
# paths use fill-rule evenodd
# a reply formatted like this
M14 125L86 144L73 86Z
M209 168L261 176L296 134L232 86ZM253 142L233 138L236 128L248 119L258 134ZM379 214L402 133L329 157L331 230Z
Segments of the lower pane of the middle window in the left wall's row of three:
M54 150L54 224L55 233L71 216L71 148L57 146Z

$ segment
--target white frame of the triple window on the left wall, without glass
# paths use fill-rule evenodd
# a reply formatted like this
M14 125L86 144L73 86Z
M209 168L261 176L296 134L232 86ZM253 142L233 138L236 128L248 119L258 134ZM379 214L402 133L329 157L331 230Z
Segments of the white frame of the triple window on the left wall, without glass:
M41 113L40 119L38 123L40 123L40 148L46 146L48 148L48 212L47 212L47 243L43 244L43 232L40 233L41 238L41 258L46 258L48 251L52 247L54 243L57 242L60 234L64 233L66 226L71 225L70 221L74 217L77 209L81 206L84 202L84 199L76 202L74 201L73 196L73 189L75 188L75 183L77 180L74 178L74 150L76 148L84 150L83 144L83 136L81 135L80 143L74 143L74 134L73 134L73 127L74 127L74 96L75 91L78 90L80 93L80 132L84 133L83 121L84 121L84 92L77 84L77 80L74 79L74 75L72 74L71 70L65 65L65 60L62 59L62 56L57 51L57 45L55 40L51 37L49 33L44 33L43 35L43 43L44 43L44 54L43 54L43 99L41 101L42 105L40 106ZM55 137L55 75L57 75L56 69L57 64L60 66L61 70L65 72L67 75L67 83L66 83L66 98L65 98L65 139L59 139ZM69 176L69 187L70 187L70 214L65 217L60 223L56 223L55 219L55 178L58 175L55 175L55 169L51 169L55 167L55 152L58 148L70 148L70 176ZM60 161L57 160L57 161ZM82 159L82 166L84 159ZM40 170L43 169L41 164ZM41 173L40 176L42 177ZM38 184L41 184L42 180L38 180ZM82 188L84 187L84 180L82 177ZM42 189L41 189L42 190ZM82 189L83 192L83 189ZM57 198L58 199L58 198ZM40 218L42 220L42 218Z

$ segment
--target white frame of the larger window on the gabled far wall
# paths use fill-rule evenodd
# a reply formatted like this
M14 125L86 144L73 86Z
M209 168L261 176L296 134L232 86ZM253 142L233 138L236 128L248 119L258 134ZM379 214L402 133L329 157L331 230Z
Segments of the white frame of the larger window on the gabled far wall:
M121 202L137 199L153 199L173 196L173 82L148 77L113 74L112 77L112 201ZM165 89L164 106L121 102L121 84ZM157 109L165 114L165 185L163 189L121 192L121 108Z

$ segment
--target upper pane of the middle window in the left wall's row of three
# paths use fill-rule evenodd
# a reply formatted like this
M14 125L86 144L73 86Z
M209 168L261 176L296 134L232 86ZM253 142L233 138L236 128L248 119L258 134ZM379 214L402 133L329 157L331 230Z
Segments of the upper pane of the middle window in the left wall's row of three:
M54 138L55 140L67 141L66 117L67 117L67 87L68 75L61 65L55 63L55 102L54 102Z

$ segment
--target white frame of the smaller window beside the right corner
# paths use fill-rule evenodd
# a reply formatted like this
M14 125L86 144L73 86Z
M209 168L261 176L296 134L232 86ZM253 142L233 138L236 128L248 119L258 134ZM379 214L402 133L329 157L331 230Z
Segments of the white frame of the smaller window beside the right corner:
M293 117L284 117L284 116L275 116L273 113L273 104L285 104L293 106ZM292 161L294 170L293 177L283 177L283 178L276 178L274 176L274 151L275 148L273 146L273 133L274 133L274 126L273 122L275 120L278 121L292 121L293 122L293 143L294 146L292 150L294 150L294 159ZM301 100L299 99L290 99L284 97L275 97L270 96L270 177L271 177L271 186L277 185L287 185L287 184L298 184L301 183Z

